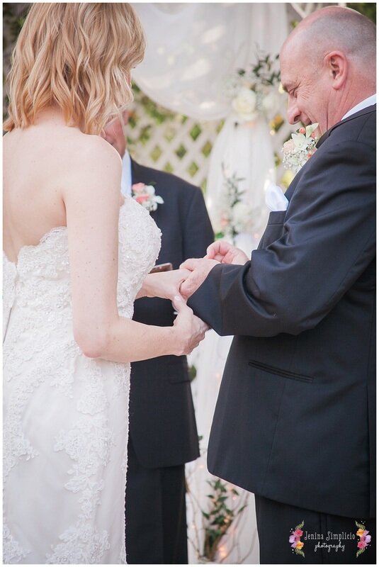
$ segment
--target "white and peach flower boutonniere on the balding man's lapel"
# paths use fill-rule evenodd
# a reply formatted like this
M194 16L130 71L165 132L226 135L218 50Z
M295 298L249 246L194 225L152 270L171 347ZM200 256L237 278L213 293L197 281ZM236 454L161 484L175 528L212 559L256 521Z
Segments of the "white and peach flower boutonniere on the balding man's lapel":
M298 173L317 150L318 137L315 130L318 124L310 124L307 128L299 128L291 135L291 140L285 142L282 148L283 165L293 173Z

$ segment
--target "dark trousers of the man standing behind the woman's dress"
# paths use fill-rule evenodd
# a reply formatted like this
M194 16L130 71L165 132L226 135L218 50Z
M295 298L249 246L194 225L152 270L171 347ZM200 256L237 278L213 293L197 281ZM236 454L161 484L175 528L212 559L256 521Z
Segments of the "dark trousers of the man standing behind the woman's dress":
M188 563L184 465L145 468L129 439L125 509L128 563Z

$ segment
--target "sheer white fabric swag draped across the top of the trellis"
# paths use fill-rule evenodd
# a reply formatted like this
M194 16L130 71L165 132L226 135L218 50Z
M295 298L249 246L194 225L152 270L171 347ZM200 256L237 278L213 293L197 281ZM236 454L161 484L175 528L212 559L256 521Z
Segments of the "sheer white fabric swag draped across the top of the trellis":
M255 61L275 55L287 34L285 4L132 4L147 38L133 79L152 100L197 120L230 113L225 84Z

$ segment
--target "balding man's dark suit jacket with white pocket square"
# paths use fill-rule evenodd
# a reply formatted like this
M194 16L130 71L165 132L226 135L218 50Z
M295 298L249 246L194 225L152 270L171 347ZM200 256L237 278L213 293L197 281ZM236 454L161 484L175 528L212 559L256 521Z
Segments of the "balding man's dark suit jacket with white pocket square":
M334 125L244 266L215 266L189 305L234 337L211 473L256 494L375 515L375 117Z

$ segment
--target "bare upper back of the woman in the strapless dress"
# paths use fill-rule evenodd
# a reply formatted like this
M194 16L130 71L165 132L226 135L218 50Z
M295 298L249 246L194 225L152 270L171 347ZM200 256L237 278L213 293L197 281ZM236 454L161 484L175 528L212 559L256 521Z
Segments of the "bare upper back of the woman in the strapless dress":
M38 245L52 228L67 225L64 191L93 143L94 136L69 128L54 109L4 136L3 245L11 262L22 247Z

